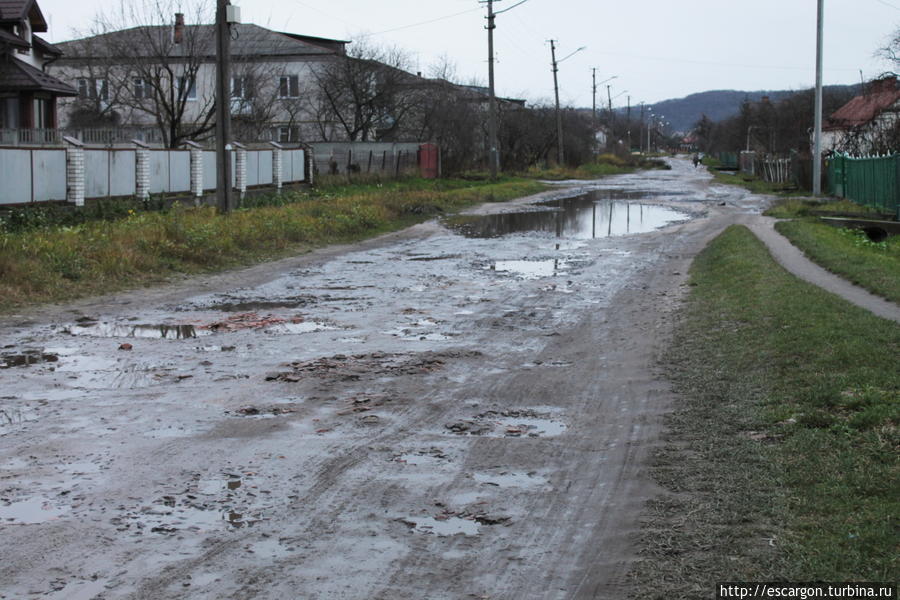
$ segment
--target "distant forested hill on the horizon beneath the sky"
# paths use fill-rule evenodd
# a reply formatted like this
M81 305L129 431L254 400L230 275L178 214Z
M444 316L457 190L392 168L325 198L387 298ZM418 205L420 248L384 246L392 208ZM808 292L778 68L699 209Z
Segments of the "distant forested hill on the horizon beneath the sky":
M824 93L840 92L843 94L855 95L858 93L859 85L829 85L825 86ZM691 94L684 98L674 100L663 100L650 105L653 113L656 115L664 115L666 120L672 124L675 131L688 132L694 128L697 121L702 115L706 115L713 121L722 121L728 117L733 117L738 113L741 104L744 101L759 102L763 96L768 96L773 103L778 102L788 96L792 96L805 90L775 90L775 91L758 91L758 92L742 92L739 90L714 90L710 92L700 92ZM599 109L599 107L598 107ZM626 108L616 109L617 114L624 115ZM644 107L645 114L647 107ZM631 118L640 118L641 107L631 107Z

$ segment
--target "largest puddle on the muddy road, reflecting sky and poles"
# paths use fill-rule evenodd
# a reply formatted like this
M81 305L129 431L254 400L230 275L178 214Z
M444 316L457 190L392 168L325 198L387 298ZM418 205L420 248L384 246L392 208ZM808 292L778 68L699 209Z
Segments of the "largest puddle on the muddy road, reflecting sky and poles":
M556 237L595 239L648 233L688 218L685 213L639 202L643 193L596 190L583 196L536 204L543 210L495 215L461 215L446 224L466 237L544 232Z

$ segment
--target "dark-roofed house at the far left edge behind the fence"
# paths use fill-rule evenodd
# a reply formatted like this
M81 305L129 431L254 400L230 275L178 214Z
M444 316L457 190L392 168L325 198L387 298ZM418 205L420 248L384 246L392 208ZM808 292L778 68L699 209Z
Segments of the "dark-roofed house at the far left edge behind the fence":
M0 0L0 130L55 129L57 99L78 95L46 72L62 52L35 35L45 31L35 0Z

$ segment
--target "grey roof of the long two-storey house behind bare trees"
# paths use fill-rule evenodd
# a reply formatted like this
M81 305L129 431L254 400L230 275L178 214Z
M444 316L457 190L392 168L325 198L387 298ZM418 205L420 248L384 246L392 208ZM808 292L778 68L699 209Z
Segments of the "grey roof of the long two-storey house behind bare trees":
M2 2L4 0L0 0ZM215 26L186 25L184 41L175 44L173 26L132 27L96 36L61 42L59 50L69 61L107 57L215 56ZM315 43L314 43L315 42ZM232 25L231 53L236 57L255 56L329 56L339 52L346 42L279 33L253 25Z

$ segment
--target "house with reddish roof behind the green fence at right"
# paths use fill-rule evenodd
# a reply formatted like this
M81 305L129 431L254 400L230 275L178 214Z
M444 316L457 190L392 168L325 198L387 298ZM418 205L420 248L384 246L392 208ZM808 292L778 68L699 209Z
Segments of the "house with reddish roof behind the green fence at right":
M896 77L871 82L863 94L836 110L822 128L822 148L851 154L900 150L893 147L900 114Z

